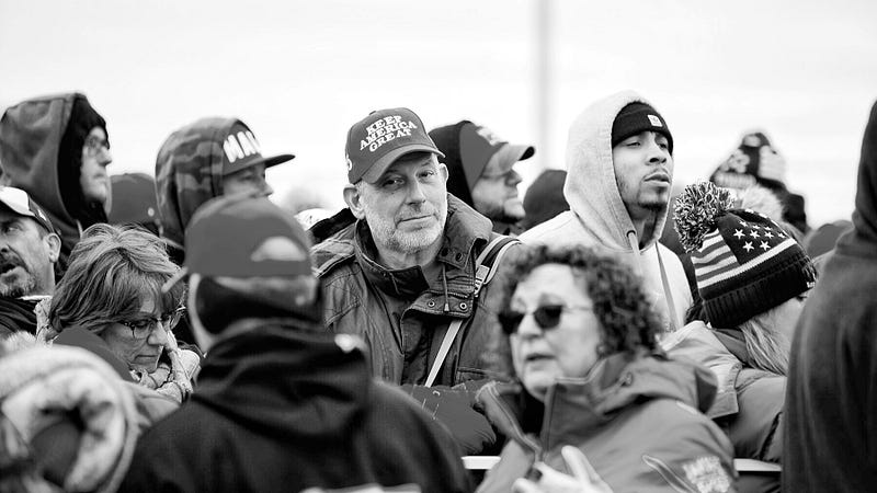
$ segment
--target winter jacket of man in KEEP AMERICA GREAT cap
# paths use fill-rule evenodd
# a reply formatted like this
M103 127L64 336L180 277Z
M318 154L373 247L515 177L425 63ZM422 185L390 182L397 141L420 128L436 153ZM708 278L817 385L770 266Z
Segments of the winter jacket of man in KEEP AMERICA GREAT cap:
M443 274L425 279L420 267L389 271L373 259L364 221L316 244L311 254L323 287L324 322L334 333L355 334L368 347L372 375L392 383L422 385L452 320L464 323L435 385L502 378L508 364L489 351L501 336L497 313L508 274L500 268L479 297L475 259L494 237L490 220L448 195ZM511 246L502 262L516 254ZM502 264L500 264L502 265Z

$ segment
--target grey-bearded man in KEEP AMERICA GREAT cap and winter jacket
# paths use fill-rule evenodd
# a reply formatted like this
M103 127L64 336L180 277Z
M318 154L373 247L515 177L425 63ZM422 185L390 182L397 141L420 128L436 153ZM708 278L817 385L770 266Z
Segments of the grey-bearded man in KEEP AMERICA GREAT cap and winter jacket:
M508 276L500 270L485 285L475 267L500 236L447 194L442 157L411 110L376 111L354 124L344 200L355 222L312 249L328 328L365 340L372 374L410 385L415 395L433 385L476 389L472 381L509 372L489 344L500 333L496 310ZM442 420L458 408L447 401L438 409ZM468 452L493 440L471 409L445 424Z

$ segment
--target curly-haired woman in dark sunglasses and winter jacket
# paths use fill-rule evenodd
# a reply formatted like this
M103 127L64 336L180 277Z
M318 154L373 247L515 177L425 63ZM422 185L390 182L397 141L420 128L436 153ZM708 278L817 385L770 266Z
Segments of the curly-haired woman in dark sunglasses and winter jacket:
M583 246L528 250L515 271L500 320L519 381L478 393L509 437L479 492L519 479L531 491L546 467L569 473L566 445L586 458L594 491L734 491L731 445L698 412L715 378L658 349L640 279Z

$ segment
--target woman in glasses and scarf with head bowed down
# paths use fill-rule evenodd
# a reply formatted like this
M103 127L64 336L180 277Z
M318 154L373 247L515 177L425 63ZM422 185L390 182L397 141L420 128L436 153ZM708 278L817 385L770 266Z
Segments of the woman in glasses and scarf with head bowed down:
M178 347L172 332L185 288L178 283L162 291L179 270L146 230L92 226L70 255L37 339L86 347L123 378L179 404L200 364L196 353Z

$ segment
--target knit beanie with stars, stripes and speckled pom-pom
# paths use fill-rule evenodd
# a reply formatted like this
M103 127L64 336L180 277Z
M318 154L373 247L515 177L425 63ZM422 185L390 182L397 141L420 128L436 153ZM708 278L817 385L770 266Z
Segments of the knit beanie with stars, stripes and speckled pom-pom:
M673 208L676 232L691 254L709 322L731 329L806 293L816 268L804 249L767 216L731 208L713 183L685 187Z

